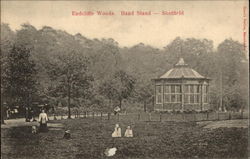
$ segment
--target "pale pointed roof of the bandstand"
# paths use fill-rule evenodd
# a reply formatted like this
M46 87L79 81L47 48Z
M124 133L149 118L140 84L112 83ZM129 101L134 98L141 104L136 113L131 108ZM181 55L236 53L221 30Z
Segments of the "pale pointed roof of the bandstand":
M158 79L207 79L200 75L198 72L188 67L183 58L180 58L179 62L175 64L174 68L167 71Z

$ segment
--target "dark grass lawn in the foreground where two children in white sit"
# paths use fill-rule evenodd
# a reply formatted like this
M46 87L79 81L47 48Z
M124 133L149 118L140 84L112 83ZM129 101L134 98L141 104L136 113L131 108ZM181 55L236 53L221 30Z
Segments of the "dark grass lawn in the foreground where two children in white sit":
M31 134L31 128L2 129L2 158L32 159L149 159L149 158L247 158L248 129L204 129L196 123L119 122L122 135L131 125L134 138L111 138L115 121L70 119L50 121L63 129ZM62 139L64 130L72 138ZM106 148L117 153L106 157Z

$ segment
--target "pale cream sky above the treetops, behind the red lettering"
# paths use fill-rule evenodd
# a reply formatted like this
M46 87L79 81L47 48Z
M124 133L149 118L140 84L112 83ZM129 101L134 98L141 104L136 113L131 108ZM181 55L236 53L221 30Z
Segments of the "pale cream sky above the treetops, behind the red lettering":
M248 1L1 1L1 22L13 30L29 23L37 29L51 26L90 39L113 38L127 47L144 43L163 48L177 36L206 38L213 40L216 47L227 38L243 43L243 12L247 4ZM115 15L72 16L72 11L112 11ZM121 11L159 14L122 16ZM161 15L162 11L183 11L184 15Z

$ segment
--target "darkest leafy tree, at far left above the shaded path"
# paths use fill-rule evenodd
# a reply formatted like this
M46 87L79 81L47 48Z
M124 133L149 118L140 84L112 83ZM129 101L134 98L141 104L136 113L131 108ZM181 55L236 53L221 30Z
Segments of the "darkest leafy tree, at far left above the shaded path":
M32 96L36 93L35 63L30 59L29 48L14 45L9 56L6 75L3 77L5 95L10 98L10 106L14 104L30 107Z

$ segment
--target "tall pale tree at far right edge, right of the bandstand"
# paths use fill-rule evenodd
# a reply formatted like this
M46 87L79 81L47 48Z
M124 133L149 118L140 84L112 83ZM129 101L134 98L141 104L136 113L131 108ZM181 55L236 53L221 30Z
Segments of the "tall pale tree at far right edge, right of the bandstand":
M220 88L220 106L227 109L242 109L248 102L248 61L243 45L226 39L217 48L217 83Z

